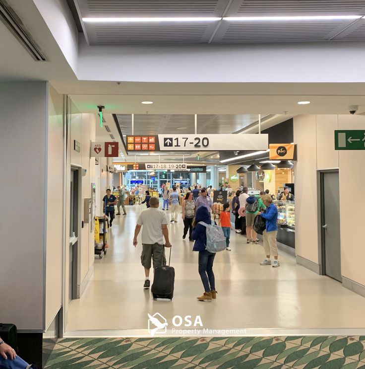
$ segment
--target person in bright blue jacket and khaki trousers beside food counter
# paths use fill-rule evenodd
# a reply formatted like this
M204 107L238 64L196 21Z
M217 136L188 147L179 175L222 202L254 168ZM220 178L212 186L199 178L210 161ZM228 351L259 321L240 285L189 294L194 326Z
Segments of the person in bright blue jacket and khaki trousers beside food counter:
M280 266L280 262L278 260L278 246L276 244L276 235L278 234L278 209L272 203L270 195L262 196L261 200L266 206L266 212L258 212L257 216L266 220L266 229L262 232L266 259L261 262L260 265L271 265L270 254L272 253L274 254L275 259L272 266L277 268Z

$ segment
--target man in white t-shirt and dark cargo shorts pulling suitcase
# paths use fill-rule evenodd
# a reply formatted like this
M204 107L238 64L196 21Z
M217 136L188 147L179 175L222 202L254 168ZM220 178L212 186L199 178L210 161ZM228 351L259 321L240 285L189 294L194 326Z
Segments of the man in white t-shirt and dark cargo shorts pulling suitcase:
M171 247L169 241L169 230L167 228L167 216L162 210L158 209L159 199L151 197L150 208L143 210L137 220L134 230L133 245L137 246L137 236L142 228L142 255L141 263L144 267L145 281L143 288L150 287L151 259L153 268L166 265L165 247Z

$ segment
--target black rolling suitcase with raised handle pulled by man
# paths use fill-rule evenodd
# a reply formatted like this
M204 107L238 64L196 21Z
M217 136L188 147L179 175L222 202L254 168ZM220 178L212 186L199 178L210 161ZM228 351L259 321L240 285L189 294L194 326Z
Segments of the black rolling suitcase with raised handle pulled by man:
M153 299L156 298L170 298L174 297L174 283L175 283L175 269L170 267L171 261L171 247L169 265L155 268L155 275L153 277L153 284L151 292Z

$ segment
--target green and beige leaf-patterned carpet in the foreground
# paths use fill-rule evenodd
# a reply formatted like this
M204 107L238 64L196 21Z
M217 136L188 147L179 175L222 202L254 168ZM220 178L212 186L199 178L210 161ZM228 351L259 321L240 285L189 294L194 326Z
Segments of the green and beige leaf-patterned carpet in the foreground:
M65 338L46 368L365 369L365 336Z

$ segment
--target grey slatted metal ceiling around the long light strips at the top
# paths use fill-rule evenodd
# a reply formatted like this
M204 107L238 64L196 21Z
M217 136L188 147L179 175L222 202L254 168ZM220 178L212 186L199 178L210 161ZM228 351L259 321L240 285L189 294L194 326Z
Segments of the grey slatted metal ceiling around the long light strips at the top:
M365 15L364 0L74 0L80 17ZM75 14L75 16L78 16ZM84 23L89 45L363 41L365 19Z

